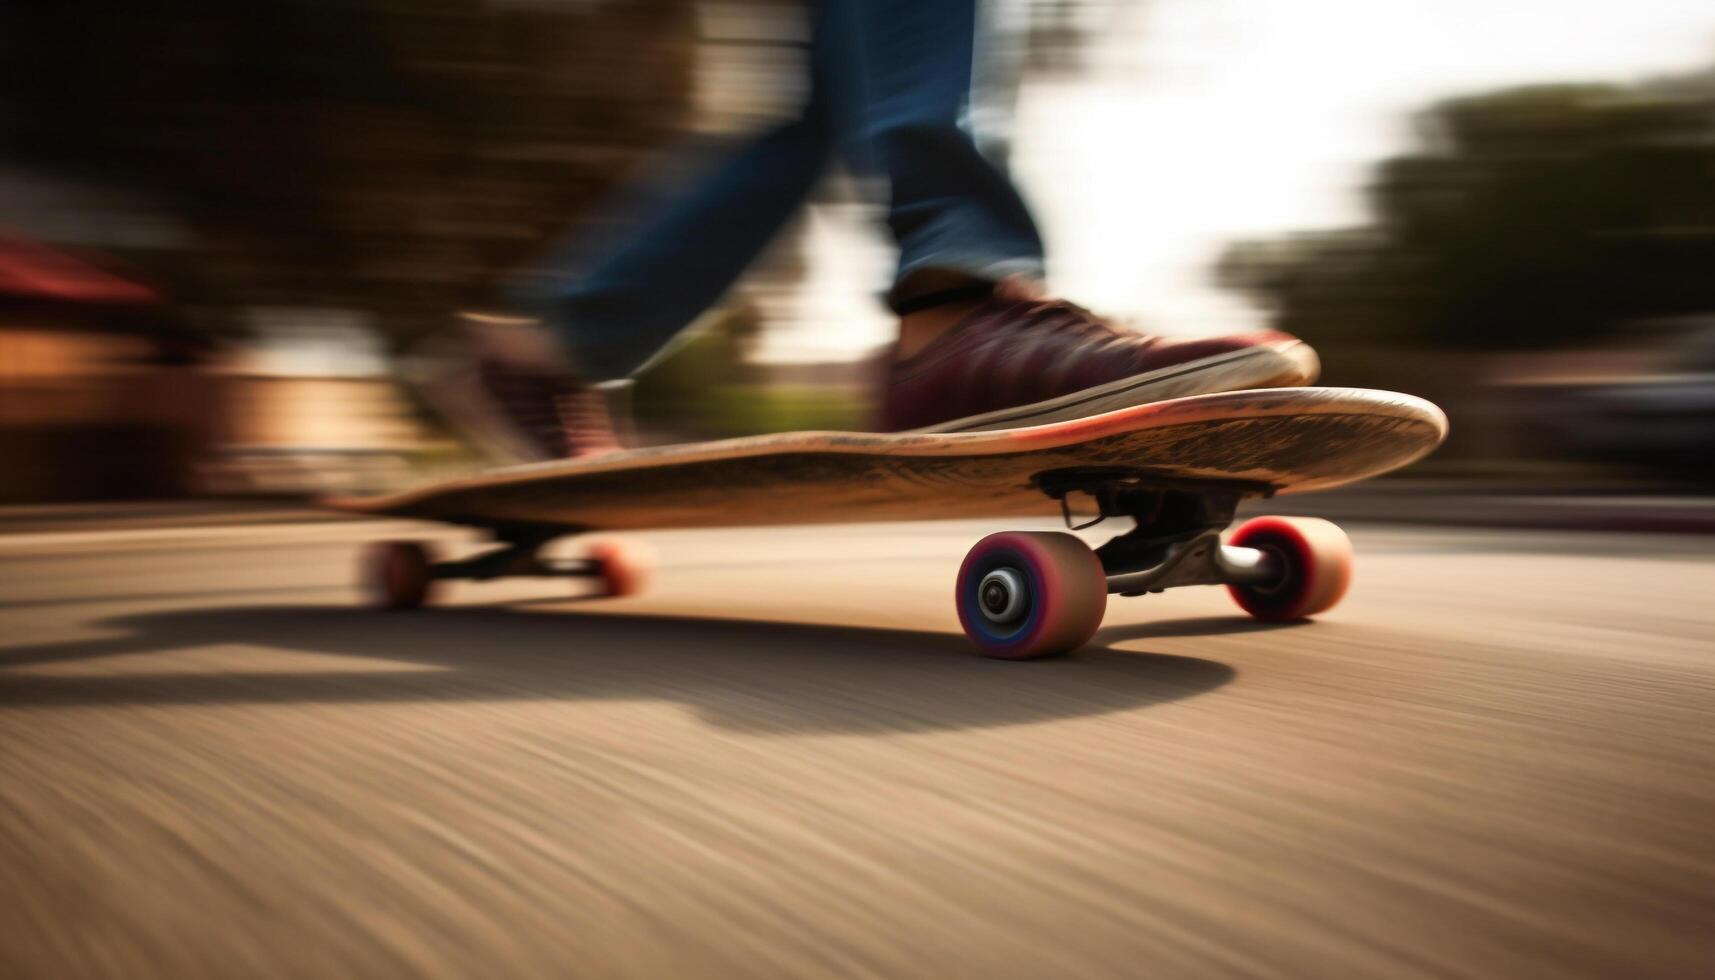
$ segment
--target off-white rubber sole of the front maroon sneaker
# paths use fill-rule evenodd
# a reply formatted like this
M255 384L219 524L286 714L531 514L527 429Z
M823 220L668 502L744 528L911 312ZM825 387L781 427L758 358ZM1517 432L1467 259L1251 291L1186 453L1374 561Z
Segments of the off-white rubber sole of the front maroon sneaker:
M966 415L950 422L907 429L909 433L981 433L988 429L1024 429L1067 422L1087 415L1101 415L1132 405L1211 395L1216 391L1243 391L1249 388L1298 388L1314 384L1322 372L1315 350L1302 340L1259 343L1213 357L1200 357L1156 371L1146 371L1094 388L1084 388L1058 398L1014 405L981 415Z

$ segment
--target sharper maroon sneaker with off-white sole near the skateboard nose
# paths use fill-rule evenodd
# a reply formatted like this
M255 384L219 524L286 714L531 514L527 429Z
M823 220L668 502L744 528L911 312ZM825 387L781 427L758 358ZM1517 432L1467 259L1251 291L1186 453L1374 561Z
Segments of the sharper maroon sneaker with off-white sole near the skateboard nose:
M1315 381L1315 352L1279 331L1166 338L1002 283L887 369L880 431L1043 426L1128 405Z

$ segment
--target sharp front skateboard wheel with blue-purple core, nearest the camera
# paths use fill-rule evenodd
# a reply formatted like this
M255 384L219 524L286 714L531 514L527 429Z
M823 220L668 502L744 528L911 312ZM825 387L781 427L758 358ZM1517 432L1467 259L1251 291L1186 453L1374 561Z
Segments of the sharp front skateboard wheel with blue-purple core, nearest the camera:
M1108 611L1108 575L1087 544L1058 530L1007 530L959 566L959 623L991 657L1022 661L1082 647Z

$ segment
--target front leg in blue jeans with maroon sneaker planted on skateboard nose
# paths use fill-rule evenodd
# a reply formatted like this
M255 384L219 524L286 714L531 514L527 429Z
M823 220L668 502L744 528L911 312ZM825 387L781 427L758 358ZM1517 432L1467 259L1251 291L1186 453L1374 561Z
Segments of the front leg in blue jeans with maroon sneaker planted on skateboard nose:
M825 0L825 29L858 50L861 112L845 148L887 178L899 242L888 302L900 335L880 429L1032 426L1314 378L1314 354L1285 335L1171 340L1043 297L1036 225L967 127L976 0Z

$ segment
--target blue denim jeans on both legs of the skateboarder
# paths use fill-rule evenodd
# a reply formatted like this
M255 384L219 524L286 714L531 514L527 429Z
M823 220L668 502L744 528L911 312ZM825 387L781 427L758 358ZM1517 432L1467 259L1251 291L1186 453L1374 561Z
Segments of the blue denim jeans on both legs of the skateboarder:
M890 302L959 278L1039 278L1029 209L962 127L976 2L816 0L799 117L676 182L643 215L633 206L617 239L563 252L525 302L590 381L629 376L720 299L835 156L890 191Z

